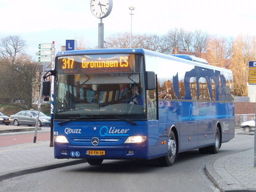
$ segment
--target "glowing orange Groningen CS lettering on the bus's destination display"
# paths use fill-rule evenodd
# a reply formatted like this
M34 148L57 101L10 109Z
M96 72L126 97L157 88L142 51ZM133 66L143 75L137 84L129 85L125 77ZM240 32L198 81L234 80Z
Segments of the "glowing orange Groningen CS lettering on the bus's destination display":
M128 57L120 57L120 60L101 60L87 61L86 58L82 59L82 68L116 68L128 67Z

